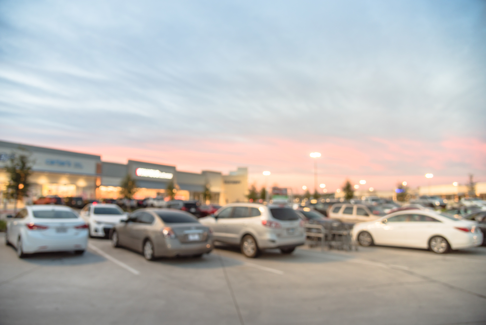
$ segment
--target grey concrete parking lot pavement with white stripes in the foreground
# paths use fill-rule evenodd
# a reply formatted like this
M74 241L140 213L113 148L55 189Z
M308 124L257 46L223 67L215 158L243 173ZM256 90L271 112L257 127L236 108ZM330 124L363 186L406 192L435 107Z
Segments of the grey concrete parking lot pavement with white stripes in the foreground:
M0 324L486 324L485 267L484 247L257 259L219 247L149 262L104 239L82 256L2 245Z

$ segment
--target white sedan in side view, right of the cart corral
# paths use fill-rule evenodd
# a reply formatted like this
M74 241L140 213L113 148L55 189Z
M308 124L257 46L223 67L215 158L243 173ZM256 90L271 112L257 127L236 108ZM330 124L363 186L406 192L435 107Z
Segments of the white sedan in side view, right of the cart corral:
M440 254L479 246L483 233L474 221L431 210L406 210L355 224L353 239L362 246L423 248Z

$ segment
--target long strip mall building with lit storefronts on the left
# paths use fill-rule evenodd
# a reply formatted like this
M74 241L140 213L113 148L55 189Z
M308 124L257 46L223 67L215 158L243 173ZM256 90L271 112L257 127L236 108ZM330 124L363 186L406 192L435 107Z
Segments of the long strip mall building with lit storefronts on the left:
M101 156L0 141L0 190L8 183L5 166L12 154L27 154L33 162L30 178L32 199L47 195L83 197L83 199L118 199L121 180L131 175L139 190L136 199L166 196L169 182L177 189L175 199L203 199L206 188L212 203L246 201L246 168L229 175L203 171L188 173L175 166L129 160L126 164L103 162Z

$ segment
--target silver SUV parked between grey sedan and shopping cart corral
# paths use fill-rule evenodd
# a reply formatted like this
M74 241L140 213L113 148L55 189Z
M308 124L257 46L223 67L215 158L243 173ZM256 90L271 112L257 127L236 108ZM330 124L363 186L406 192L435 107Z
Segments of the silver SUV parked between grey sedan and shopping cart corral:
M199 222L212 229L214 241L239 245L247 257L269 248L290 254L305 241L303 220L284 205L232 203Z

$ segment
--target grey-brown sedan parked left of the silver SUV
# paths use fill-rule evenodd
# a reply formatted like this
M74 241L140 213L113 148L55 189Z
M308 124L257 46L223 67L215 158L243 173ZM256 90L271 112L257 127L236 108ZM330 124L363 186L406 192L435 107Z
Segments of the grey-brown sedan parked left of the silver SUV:
M201 257L213 249L210 229L191 214L175 209L140 209L116 225L111 233L114 247L126 247L156 257Z

